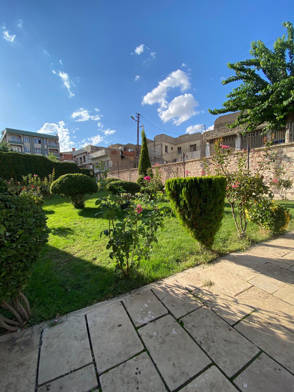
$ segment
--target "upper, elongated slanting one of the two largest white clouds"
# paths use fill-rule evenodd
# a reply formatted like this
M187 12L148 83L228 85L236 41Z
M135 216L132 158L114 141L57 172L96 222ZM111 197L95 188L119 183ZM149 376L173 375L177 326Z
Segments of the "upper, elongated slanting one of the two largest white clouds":
M174 87L180 87L181 91L185 91L190 88L189 76L180 69L170 73L166 79L158 83L157 87L155 87L150 93L146 94L143 97L142 105L152 105L153 103L158 102L163 107L167 107L167 91Z

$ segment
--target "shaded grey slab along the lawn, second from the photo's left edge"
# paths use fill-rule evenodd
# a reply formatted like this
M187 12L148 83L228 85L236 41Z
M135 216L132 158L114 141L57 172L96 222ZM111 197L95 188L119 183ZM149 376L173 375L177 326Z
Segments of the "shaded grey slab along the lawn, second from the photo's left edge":
M85 318L46 328L42 334L38 384L93 361Z

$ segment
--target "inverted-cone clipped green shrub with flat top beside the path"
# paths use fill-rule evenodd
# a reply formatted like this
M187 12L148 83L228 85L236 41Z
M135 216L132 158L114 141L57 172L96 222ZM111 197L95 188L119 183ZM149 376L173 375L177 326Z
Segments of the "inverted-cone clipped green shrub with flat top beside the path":
M165 191L174 213L202 245L211 246L225 205L227 181L224 177L173 178Z

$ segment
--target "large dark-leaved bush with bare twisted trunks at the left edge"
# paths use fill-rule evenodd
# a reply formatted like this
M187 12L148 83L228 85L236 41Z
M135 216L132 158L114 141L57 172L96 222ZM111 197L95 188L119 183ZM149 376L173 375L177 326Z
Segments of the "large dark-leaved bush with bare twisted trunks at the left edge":
M0 315L0 326L17 330L29 319L22 290L49 235L41 207L20 196L0 194L0 305L17 321Z

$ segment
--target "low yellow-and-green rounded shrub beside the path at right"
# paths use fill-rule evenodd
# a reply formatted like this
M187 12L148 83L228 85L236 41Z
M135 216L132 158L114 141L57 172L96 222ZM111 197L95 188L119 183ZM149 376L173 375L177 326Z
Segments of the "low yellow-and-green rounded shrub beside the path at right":
M287 208L268 198L262 198L260 202L251 201L246 213L251 222L273 233L285 231L291 218Z

